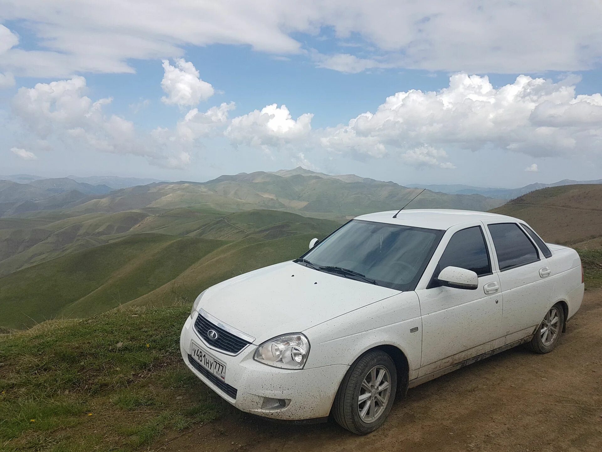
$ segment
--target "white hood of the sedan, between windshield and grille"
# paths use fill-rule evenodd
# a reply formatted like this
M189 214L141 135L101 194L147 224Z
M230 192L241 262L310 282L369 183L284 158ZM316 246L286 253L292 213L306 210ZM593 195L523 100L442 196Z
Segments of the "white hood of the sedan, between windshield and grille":
M199 307L255 337L298 333L399 290L282 262L209 287Z

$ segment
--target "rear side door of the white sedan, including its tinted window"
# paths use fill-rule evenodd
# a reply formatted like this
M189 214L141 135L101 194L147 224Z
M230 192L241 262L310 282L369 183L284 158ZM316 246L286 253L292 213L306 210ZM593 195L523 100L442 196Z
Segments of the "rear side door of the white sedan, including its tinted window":
M523 339L542 321L552 287L547 259L515 222L487 221L499 269L504 343Z

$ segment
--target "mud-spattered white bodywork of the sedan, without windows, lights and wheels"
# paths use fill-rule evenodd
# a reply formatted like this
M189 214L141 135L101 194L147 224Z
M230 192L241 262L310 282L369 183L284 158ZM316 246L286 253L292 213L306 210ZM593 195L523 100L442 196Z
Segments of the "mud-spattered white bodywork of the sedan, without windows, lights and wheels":
M210 287L199 307L224 324L257 339L237 356L212 350L226 365L225 381L238 390L234 400L188 364L191 341L203 344L188 318L180 348L188 367L239 409L279 419L327 416L350 365L379 345L406 356L409 386L483 359L529 340L557 301L568 304L568 318L583 298L579 256L550 245L553 256L500 272L486 227L515 222L507 216L454 210L408 210L362 216L446 230L414 291L386 287L315 271L293 262L249 272ZM491 257L491 274L476 290L429 287L441 254L456 231L479 225ZM536 246L536 245L535 245ZM547 267L549 274L541 276ZM544 272L546 273L546 272ZM486 293L485 286L497 286ZM302 332L311 345L305 368L267 366L253 360L256 347L272 337ZM285 399L282 409L262 409L264 397Z

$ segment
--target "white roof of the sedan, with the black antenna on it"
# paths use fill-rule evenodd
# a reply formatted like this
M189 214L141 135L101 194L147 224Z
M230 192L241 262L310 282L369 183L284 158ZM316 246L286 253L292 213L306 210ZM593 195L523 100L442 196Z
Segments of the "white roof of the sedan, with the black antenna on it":
M442 230L447 230L457 224L482 220L500 219L500 221L517 221L516 218L512 218L511 216L499 215L498 213L475 212L474 210L408 209L402 210L397 215L397 218L393 218L396 212L397 210L388 210L386 212L368 213L367 215L357 216L355 219Z

